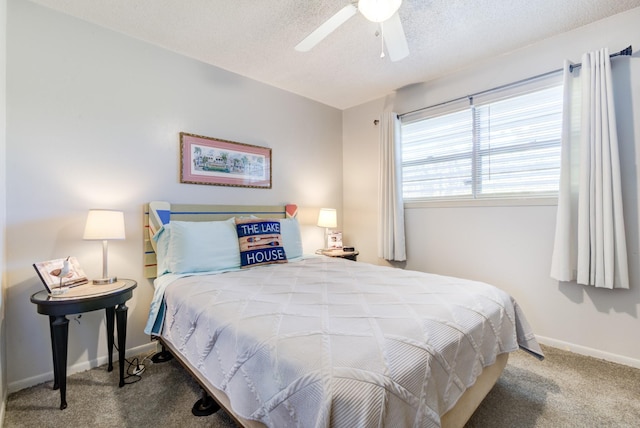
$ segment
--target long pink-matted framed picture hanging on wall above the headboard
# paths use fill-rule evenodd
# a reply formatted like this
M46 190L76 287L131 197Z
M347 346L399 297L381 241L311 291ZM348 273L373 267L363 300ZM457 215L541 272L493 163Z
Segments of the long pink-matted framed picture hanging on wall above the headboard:
M271 149L180 133L180 182L271 188Z

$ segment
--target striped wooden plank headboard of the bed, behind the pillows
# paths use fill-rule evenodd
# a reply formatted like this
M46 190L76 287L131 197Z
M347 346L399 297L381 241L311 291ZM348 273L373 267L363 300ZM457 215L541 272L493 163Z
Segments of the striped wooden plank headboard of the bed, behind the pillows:
M151 239L163 224L171 220L179 221L219 221L236 216L256 216L260 218L295 217L297 205L209 205L171 204L153 201L144 205L144 276L155 278L157 262L155 242Z

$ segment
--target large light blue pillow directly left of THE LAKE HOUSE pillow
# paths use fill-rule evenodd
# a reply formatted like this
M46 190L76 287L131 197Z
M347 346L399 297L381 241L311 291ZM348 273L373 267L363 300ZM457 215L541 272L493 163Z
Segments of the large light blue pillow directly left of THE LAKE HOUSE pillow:
M235 219L172 221L166 269L172 273L209 272L240 267Z

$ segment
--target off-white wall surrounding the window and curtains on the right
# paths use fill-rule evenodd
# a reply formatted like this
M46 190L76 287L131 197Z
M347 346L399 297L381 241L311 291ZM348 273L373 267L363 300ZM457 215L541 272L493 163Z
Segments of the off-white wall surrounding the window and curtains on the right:
M640 48L640 8L412 85L343 112L345 234L376 257L378 129L382 111L400 114L579 62L583 52ZM434 58L437 61L437 58ZM543 342L640 367L637 164L640 161L640 58L613 60L631 269L631 290L558 284L549 277L556 206L408 207L406 267L493 283L511 293ZM364 155L363 155L364 154Z

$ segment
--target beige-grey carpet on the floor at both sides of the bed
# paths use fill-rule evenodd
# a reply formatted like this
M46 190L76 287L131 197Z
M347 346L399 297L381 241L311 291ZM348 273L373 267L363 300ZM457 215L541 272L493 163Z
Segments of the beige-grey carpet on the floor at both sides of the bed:
M555 348L544 351L544 361L513 353L467 427L640 426L640 370ZM69 376L69 407L62 411L52 382L11 394L4 426L235 427L223 412L191 414L200 390L178 363L144 365L142 379L124 388L117 386L117 369L108 373L105 366Z

